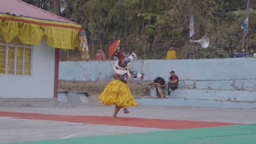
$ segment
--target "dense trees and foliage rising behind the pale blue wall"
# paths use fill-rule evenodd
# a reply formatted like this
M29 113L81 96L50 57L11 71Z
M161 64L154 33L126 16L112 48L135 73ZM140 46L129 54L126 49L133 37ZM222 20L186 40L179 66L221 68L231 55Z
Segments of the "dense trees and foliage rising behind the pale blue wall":
M29 0L28 0L29 1ZM83 25L92 52L100 42L110 44L121 38L127 51L152 58L164 58L167 45L176 47L178 58L189 58L189 22L194 17L195 34L210 38L210 46L195 44L196 58L229 57L232 49L242 47L241 23L246 2L241 0L86 0L66 2L66 18ZM250 1L248 49L256 49L256 2ZM190 57L191 58L191 57Z

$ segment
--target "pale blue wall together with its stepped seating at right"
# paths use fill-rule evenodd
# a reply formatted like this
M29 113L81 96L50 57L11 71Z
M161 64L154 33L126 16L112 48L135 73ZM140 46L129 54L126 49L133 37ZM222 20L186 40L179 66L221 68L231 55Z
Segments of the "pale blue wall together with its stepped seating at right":
M61 62L60 80L110 81L115 61ZM256 105L256 58L139 60L132 70L144 80L161 76L167 81L171 70L179 76L179 87L170 99L137 99L140 105L199 106L253 109ZM165 89L167 93L167 88ZM150 91L156 97L155 89Z

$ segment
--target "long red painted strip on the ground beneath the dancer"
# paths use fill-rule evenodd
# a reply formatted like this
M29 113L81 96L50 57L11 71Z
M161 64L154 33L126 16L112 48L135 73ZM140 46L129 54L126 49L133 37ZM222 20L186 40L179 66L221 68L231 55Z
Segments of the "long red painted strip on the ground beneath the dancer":
M168 119L145 119L121 117L120 120L113 120L106 116L64 116L64 115L46 115L39 113L21 113L0 111L2 117L13 117L17 119L37 119L61 122L76 122L104 125L120 125L143 128L162 128L162 129L189 129L189 128L207 128L220 127L225 125L236 125L238 123L223 122L202 122L202 121L183 121ZM239 123L241 124L241 123Z

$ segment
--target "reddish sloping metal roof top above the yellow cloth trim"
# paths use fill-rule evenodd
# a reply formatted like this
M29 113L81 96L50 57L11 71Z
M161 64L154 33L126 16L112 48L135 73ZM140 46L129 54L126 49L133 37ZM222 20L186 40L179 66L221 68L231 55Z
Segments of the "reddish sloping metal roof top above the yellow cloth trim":
M61 16L49 13L48 11L34 7L33 5L22 2L20 0L0 0L0 13L7 12L17 13L26 17L33 17L36 19L74 23Z

